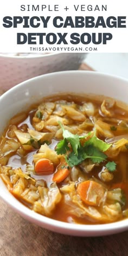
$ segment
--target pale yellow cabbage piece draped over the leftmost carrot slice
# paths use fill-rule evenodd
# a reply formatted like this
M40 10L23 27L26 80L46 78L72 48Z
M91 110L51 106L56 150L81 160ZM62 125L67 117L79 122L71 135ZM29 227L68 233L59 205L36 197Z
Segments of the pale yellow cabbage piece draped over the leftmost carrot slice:
M41 158L48 158L54 165L59 164L59 156L54 150L50 149L47 144L41 145L39 152L33 155L33 158L34 163Z

